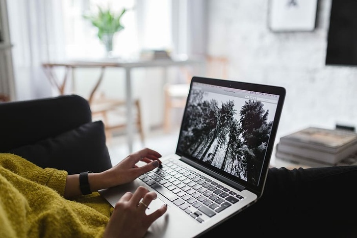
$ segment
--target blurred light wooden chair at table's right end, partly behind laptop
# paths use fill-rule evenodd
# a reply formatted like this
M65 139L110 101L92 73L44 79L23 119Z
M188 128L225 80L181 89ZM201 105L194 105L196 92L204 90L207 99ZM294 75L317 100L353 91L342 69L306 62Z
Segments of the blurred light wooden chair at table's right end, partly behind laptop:
M228 68L228 59L226 57L207 56L206 71L207 77L226 78ZM183 84L166 84L164 86L164 131L168 133L171 130L172 111L174 109L183 109L186 105L192 72L187 68L183 71L186 83Z

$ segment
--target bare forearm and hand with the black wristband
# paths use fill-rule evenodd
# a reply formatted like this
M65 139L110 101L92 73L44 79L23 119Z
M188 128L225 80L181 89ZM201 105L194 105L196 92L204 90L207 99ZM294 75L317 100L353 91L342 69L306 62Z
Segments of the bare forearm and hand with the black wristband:
M104 172L88 174L90 190L98 191L100 189L106 189L131 182L143 173L158 167L161 163L159 160L160 157L160 153L148 148L132 153L116 166ZM143 161L147 164L138 167L136 164L139 161ZM71 198L81 194L79 174L68 175L64 197Z

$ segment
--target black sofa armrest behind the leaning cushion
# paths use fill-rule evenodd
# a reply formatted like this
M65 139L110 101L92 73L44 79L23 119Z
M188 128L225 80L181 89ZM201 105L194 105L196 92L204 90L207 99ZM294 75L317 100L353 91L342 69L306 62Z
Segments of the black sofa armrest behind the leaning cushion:
M54 137L92 121L89 103L63 95L0 103L0 152Z

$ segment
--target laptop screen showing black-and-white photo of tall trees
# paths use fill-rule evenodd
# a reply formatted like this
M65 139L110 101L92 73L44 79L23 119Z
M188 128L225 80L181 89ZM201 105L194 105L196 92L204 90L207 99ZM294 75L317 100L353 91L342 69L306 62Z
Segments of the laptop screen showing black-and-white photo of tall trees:
M285 90L193 77L176 153L260 191Z

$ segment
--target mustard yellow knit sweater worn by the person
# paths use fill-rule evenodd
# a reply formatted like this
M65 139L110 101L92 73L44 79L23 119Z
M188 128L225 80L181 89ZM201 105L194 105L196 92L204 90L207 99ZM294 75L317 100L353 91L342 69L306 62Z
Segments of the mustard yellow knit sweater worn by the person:
M111 206L98 193L63 197L67 172L0 153L0 237L100 237Z

